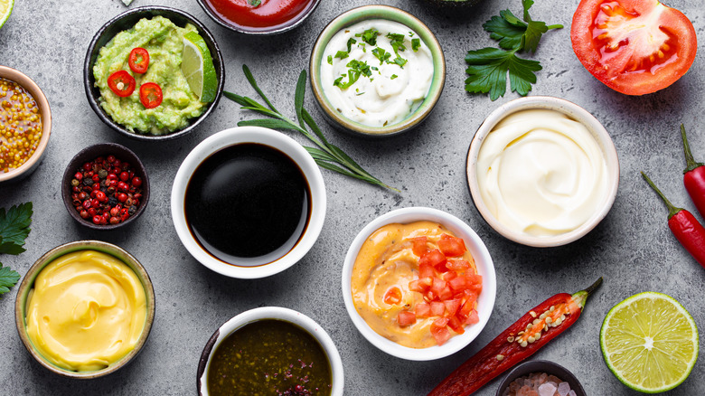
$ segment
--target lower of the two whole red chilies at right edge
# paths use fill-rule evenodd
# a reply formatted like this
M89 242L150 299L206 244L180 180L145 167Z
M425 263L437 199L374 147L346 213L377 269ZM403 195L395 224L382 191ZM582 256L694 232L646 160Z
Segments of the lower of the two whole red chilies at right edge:
M668 208L668 227L673 235L681 242L685 250L691 253L693 259L705 268L705 228L700 225L700 222L695 219L691 212L673 206L671 201L661 193L661 190L656 187L656 184L653 184L649 176L644 174L644 172L642 172L642 176L644 176L646 183L651 185L653 191L659 194L663 203L666 204Z

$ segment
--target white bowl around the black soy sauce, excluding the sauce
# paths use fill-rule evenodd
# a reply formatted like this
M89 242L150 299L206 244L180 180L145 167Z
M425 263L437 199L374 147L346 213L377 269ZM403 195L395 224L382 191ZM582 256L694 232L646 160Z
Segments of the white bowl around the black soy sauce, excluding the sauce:
M186 187L196 168L206 158L222 148L242 143L258 143L270 146L289 156L303 172L311 193L309 197L310 213L308 223L296 246L282 257L251 267L232 265L215 258L207 250L204 250L198 241L194 239L189 229L183 203ZM193 258L200 261L204 266L231 278L264 278L293 266L314 246L315 240L318 239L318 235L323 228L325 202L325 185L321 171L318 169L318 165L315 164L314 158L305 151L303 146L296 143L296 140L264 127L233 127L203 140L183 160L179 171L176 173L174 186L172 187L172 220L183 246L186 250L189 250Z

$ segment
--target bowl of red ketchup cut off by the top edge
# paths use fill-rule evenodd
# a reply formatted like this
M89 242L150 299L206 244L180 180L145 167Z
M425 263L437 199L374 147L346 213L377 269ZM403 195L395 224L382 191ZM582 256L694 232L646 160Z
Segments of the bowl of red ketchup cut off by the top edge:
M321 0L198 0L208 16L231 31L277 34L302 24Z

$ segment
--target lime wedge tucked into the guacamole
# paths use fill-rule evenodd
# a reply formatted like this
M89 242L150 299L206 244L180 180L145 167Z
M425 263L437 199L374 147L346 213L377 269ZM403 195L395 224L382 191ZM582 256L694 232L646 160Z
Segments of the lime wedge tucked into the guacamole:
M218 78L215 76L211 52L208 51L208 46L198 33L183 34L181 71L193 93L202 102L215 100Z

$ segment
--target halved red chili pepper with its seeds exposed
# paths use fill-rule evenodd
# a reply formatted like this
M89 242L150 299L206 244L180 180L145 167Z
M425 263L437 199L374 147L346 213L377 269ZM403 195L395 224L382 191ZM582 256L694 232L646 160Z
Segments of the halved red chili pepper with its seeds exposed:
M428 396L466 396L534 354L578 320L587 297L602 283L574 295L559 293L534 307L447 376Z

